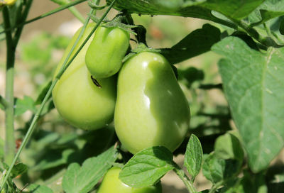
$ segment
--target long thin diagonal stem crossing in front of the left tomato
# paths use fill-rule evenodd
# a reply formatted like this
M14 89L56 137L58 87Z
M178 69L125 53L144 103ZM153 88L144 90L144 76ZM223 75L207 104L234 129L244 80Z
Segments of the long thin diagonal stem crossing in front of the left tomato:
M67 69L67 67L71 64L71 62L75 59L75 57L77 56L78 53L80 53L80 50L82 50L82 48L84 47L84 45L87 43L87 41L89 40L89 38L92 36L92 34L94 33L94 31L96 31L96 29L99 27L100 23L102 23L102 21L104 20L104 18L107 16L107 13L109 13L109 11L111 10L111 7L114 6L116 0L113 0L111 2L111 4L109 5L109 8L107 9L107 11L104 12L104 15L102 16L102 18L99 20L99 22L97 23L97 25L94 27L94 29L91 31L91 33L89 33L89 35L87 36L86 40L84 40L84 42L82 43L82 45L80 46L80 48L77 50L77 52L75 53L75 55L69 60L69 62L67 63L67 65L63 64L60 72L58 72L58 75L55 77L55 79L53 80L52 84L50 85L50 88L48 89L47 94L45 95L42 103L40 104L40 108L38 109L38 111L36 112L35 116L33 116L33 121L31 122L31 126L28 128L28 132L26 133L25 138L23 138L23 142L21 143L20 148L18 148L18 152L16 153L16 156L13 158L13 162L11 163L11 166L9 167L8 172L6 172L6 175L4 175L4 180L2 181L2 183L0 184L0 191L1 189L4 187L4 184L6 183L6 181L8 180L9 175L11 174L11 171L13 169L13 166L15 165L16 161L18 160L19 155L21 154L21 151L23 150L23 148L26 146L26 144L28 143L28 140L31 138L31 135L33 134L33 131L35 130L35 124L38 121L38 118L40 117L41 112L43 111L43 107L45 106L45 103L48 101L51 92L53 90L53 88L55 87L55 84L58 82L58 80L60 79L60 77L62 76L63 72L65 72L65 70ZM84 27L87 26L87 22L89 22L89 19L86 20L86 22L84 23ZM83 29L84 29L83 27ZM82 29L82 31L83 31ZM82 32L81 31L81 32ZM81 34L81 33L80 33ZM77 40L80 39L80 36L78 36ZM72 46L72 49L70 50L69 56L71 55L71 53L73 52L73 50L75 50L75 46ZM68 58L65 59L65 63L68 61Z

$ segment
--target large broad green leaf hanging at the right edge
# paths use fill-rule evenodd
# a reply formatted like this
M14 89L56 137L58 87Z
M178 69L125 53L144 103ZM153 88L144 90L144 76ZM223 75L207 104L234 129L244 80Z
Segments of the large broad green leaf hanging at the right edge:
M260 53L229 37L212 50L226 57L219 61L224 92L251 170L261 171L284 143L284 48Z

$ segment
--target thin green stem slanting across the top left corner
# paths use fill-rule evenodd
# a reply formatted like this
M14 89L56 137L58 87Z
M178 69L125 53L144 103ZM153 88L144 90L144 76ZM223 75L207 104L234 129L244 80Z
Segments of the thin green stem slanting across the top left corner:
M72 1L72 2L70 2L70 4L66 4L64 6L60 6L57 9L53 9L52 11L48 11L48 13L44 13L43 15L37 16L37 17L32 18L32 19L30 19L28 21L25 21L23 23L18 23L18 25L14 26L13 28L18 28L18 27L24 26L24 25L26 25L28 23L31 23L33 21L37 21L40 18L45 18L45 17L50 16L50 15L52 15L54 13L58 13L59 11L62 11L64 9L68 9L68 8L70 8L70 6L75 6L75 5L80 4L80 3L84 2L84 1L87 1L87 0ZM6 32L6 31L11 31L13 28L7 28L4 31L1 31L0 34Z

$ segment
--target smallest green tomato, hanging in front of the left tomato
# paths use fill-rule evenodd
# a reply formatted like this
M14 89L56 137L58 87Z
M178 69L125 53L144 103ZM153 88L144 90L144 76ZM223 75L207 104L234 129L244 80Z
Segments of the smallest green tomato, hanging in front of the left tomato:
M129 38L129 33L120 28L98 28L85 57L89 72L96 78L118 72L129 48Z

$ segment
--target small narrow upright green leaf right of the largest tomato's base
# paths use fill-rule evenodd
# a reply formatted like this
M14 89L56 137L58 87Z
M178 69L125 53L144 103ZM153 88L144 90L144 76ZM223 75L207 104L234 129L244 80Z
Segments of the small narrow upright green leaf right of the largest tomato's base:
M190 175L192 175L192 179L195 179L201 170L202 158L203 153L200 140L198 140L197 136L192 134L189 142L187 143L184 163L185 167L187 167L187 171Z

